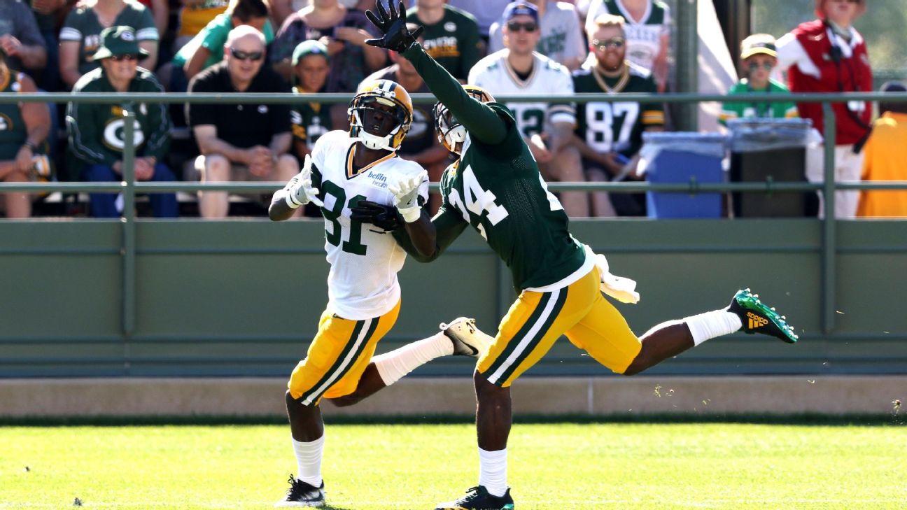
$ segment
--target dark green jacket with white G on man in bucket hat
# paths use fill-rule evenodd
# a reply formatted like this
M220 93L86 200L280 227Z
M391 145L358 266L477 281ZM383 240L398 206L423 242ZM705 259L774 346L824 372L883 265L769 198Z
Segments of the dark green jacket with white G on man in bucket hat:
M84 74L73 93L115 93L103 68ZM161 83L150 71L139 68L127 93L163 93ZM135 154L163 159L170 147L171 120L164 103L138 103L135 110ZM122 160L123 111L119 104L69 103L66 128L69 148L76 158L89 164L112 165Z

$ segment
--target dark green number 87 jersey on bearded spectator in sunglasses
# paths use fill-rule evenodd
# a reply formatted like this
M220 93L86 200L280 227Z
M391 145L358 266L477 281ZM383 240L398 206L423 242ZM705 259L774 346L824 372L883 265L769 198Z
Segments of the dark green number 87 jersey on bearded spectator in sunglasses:
M651 76L631 65L624 73L610 77L596 68L573 72L576 93L656 93ZM590 102L577 104L576 133L597 152L619 152L632 156L642 147L642 132L647 126L663 126L661 103Z

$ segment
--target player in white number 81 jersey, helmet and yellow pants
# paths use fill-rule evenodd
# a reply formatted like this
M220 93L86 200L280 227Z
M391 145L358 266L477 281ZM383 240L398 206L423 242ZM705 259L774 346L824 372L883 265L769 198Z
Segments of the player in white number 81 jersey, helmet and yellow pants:
M268 209L271 220L283 221L309 201L320 207L331 264L327 309L307 357L287 385L297 476L290 476L290 488L278 506L325 505L322 398L337 406L353 405L431 359L478 357L491 341L473 333L472 319L460 318L442 324L432 337L372 358L375 344L394 326L400 310L397 271L406 253L387 231L402 222L416 240L416 250L430 253L434 226L422 208L428 196L426 172L396 155L413 122L409 93L390 80L367 83L347 114L349 132L322 135L302 172L274 193ZM368 222L360 221L354 210L365 211Z

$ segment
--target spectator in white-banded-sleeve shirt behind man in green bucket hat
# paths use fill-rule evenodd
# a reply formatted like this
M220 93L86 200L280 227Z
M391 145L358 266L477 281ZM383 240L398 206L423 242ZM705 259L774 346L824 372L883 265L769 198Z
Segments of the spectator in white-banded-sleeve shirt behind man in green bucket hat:
M86 0L70 11L60 31L60 76L67 88L72 88L83 74L100 67L91 56L102 42L102 30L112 26L132 27L146 55L139 65L154 69L160 35L151 11L132 0Z

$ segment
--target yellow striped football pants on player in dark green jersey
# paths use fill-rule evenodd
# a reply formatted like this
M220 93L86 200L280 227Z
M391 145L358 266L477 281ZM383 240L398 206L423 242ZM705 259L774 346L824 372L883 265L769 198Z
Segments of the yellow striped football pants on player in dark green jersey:
M523 290L476 369L493 384L509 387L566 335L596 361L623 373L642 343L618 309L601 295L599 285L596 268L563 289Z

